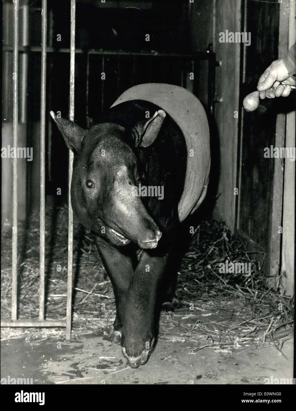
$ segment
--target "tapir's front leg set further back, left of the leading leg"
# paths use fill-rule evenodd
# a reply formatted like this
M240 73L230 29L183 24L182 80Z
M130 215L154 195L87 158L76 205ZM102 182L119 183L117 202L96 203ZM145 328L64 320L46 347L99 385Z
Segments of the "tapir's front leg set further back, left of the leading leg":
M130 279L134 274L132 260L95 234L94 239L105 270L112 282L115 296L116 318L111 340L113 342L120 342L127 293Z

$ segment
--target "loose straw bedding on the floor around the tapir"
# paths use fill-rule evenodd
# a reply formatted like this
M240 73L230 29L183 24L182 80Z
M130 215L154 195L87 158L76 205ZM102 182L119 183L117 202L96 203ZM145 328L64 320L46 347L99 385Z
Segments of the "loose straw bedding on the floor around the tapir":
M38 317L39 215L18 228L19 318ZM46 211L46 318L66 315L68 218L65 207ZM263 270L265 255L249 252L223 222L196 227L178 272L174 312L162 312L159 339L184 342L191 352L204 347L229 351L275 344L293 336L293 298L271 289ZM219 263L250 263L251 275L221 274ZM107 335L115 318L112 286L87 231L74 224L73 337L94 330ZM2 233L2 319L10 318L11 229ZM62 328L2 328L2 339L63 337Z

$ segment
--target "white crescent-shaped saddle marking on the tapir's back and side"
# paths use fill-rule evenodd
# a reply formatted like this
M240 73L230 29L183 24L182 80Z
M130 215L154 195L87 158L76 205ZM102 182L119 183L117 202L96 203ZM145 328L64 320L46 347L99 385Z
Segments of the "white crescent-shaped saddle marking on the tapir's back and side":
M190 91L171 84L135 85L119 96L111 107L130 100L144 100L159 106L171 116L184 134L187 169L184 190L178 205L181 222L198 208L207 192L210 150L209 125L205 110ZM190 150L194 150L193 157Z

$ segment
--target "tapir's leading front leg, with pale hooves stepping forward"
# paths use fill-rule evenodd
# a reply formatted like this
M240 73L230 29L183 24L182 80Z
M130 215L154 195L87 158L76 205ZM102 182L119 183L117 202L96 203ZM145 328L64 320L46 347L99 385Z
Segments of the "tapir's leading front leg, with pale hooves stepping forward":
M132 368L146 363L154 340L154 315L157 286L168 260L164 256L141 254L128 289L121 347Z

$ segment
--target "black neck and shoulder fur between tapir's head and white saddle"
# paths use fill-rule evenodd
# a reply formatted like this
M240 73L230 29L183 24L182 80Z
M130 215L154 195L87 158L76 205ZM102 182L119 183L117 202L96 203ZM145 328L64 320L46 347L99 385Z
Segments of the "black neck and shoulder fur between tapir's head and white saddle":
M147 111L155 113L157 110L159 107L155 104L134 100L110 109L102 122L112 122L132 129L137 122L143 120ZM133 142L130 145L133 146ZM145 179L141 180L142 185L164 186L163 200L142 197L149 214L162 231L162 239L156 249L160 252L165 241L169 240L171 243L171 235L179 223L178 202L183 192L187 162L184 136L178 125L166 114L155 142L148 148L139 147L134 152L140 169L145 174Z

